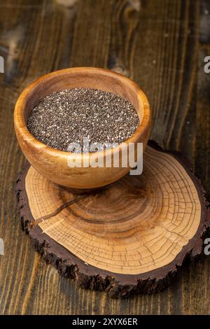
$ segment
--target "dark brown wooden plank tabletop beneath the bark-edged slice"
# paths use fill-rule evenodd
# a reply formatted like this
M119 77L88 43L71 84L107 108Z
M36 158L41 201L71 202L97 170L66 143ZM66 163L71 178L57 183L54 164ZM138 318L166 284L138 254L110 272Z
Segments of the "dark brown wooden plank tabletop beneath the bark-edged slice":
M14 193L25 159L13 108L34 78L68 66L115 69L151 101L151 137L182 151L210 196L209 1L0 1L1 314L210 314L210 258L186 265L164 292L111 300L61 278L20 230Z

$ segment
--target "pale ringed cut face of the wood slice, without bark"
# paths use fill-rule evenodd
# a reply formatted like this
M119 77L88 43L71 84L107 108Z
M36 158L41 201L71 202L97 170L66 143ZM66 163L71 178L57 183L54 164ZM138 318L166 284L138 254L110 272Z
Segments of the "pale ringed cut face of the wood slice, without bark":
M141 177L125 176L101 193L75 197L32 167L25 189L34 225L84 262L119 274L169 264L200 225L192 179L172 156L149 147Z

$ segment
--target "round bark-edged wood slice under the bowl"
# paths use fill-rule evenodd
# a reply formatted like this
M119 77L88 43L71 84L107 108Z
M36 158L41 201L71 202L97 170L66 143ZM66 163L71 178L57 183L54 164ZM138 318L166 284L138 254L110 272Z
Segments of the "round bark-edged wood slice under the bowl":
M22 228L60 274L113 297L162 290L202 252L209 209L183 160L147 146L144 172L76 193L28 164L17 187Z

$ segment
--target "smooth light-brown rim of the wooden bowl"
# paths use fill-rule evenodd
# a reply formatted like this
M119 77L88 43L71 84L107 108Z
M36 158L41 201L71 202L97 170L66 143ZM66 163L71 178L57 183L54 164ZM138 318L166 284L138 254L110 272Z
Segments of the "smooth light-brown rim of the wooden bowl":
M39 141L34 137L31 132L29 132L27 128L27 124L25 123L24 113L25 113L25 106L27 98L30 96L31 92L33 92L34 88L38 86L40 83L44 83L46 80L50 80L50 78L53 78L55 76L65 75L69 73L101 73L105 76L113 76L113 78L118 78L118 80L123 81L123 83L129 84L134 91L137 93L137 99L138 102L141 104L141 112L142 112L142 118L141 122L139 123L139 127L137 127L137 130L134 132L132 137L129 139L126 139L122 143L118 144L115 147L105 149L104 151L96 151L93 153L72 153L69 151L62 151L58 150L57 148L52 148L51 146L48 146L46 144L43 144L42 141ZM138 114L139 115L139 114ZM140 120L140 118L139 118ZM122 74L111 71L109 69L102 69L98 67L88 67L88 66L79 66L79 67L71 67L67 69L61 69L57 71L52 71L50 73L47 73L36 80L34 80L33 83L29 84L25 89L21 92L20 96L18 97L18 100L15 104L15 111L14 111L14 125L15 125L15 132L20 132L20 135L23 139L29 142L31 146L34 148L37 148L38 150L42 150L48 155L53 155L56 157L61 158L68 158L69 156L73 155L75 159L77 158L89 158L91 155L97 155L98 158L104 157L105 153L106 155L113 155L113 153L119 152L123 148L127 147L127 144L135 143L137 139L139 139L139 136L144 136L144 132L148 130L151 123L151 107L148 102L148 98L146 97L146 94L144 91L137 85L137 83L134 83L133 80L130 78L127 78L126 76L123 76Z

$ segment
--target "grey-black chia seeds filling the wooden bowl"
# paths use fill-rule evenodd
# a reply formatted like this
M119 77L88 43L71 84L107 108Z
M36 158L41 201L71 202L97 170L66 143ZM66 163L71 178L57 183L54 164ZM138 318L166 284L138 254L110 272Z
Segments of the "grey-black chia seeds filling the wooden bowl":
M138 126L139 117L130 102L111 92L86 88L50 94L27 120L36 139L62 151L68 151L71 143L85 151L84 137L89 144L103 144L107 149L130 138Z

